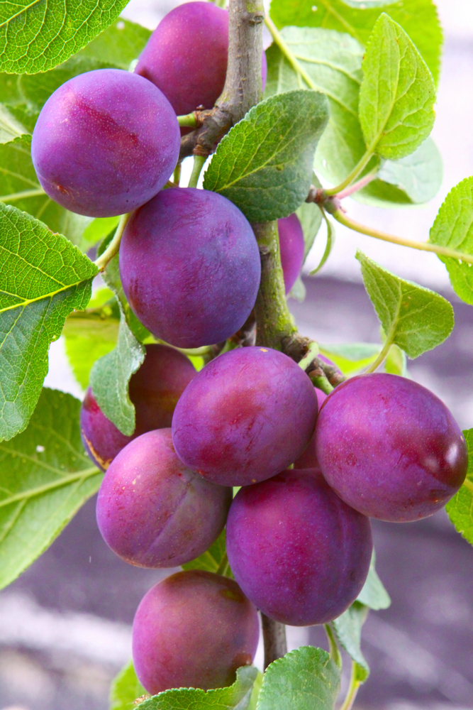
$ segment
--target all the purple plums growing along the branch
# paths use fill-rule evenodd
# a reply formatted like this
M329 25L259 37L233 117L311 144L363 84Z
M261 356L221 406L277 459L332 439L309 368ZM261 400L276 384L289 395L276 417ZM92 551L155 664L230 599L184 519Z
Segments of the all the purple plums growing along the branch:
M52 199L92 217L132 212L120 246L123 290L167 343L147 345L130 379L133 436L90 390L84 399L84 446L106 471L101 534L126 562L169 568L202 555L226 527L235 579L178 572L136 612L133 659L153 694L232 682L255 655L257 609L294 626L339 616L367 577L369 516L432 514L467 466L450 412L405 378L359 376L325 397L273 349L233 349L199 373L178 350L231 337L260 283L255 235L235 205L206 190L162 189L179 158L177 114L216 102L227 54L228 13L179 6L134 72L69 80L33 133L33 163ZM304 258L296 215L279 220L279 239L288 292Z

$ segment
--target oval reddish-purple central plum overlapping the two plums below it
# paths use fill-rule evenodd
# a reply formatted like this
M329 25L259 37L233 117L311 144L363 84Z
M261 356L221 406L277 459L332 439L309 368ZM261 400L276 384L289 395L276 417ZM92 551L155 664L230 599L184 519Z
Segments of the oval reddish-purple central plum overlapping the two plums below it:
M306 448L317 416L313 385L277 350L218 356L184 391L172 417L176 453L224 486L269 479Z

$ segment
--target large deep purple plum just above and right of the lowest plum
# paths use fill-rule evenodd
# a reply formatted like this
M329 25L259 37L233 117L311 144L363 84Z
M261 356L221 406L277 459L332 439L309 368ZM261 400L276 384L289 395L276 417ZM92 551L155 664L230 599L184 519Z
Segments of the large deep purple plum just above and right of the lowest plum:
M240 488L226 540L244 594L291 626L340 616L360 594L372 555L369 518L343 503L315 469Z

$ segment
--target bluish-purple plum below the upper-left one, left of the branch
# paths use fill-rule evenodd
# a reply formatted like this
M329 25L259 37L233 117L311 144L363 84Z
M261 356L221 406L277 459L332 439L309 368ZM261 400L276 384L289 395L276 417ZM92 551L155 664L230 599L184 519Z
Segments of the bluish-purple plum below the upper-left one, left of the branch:
M120 274L130 306L155 337L196 348L245 323L260 285L260 253L250 223L226 197L171 187L130 217Z

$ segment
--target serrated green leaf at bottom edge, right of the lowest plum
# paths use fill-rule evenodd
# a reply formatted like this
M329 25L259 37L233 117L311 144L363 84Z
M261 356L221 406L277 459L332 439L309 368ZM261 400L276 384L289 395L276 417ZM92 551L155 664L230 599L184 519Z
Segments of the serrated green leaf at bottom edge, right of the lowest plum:
M330 655L301 646L267 667L257 710L333 710L339 689L340 669Z

